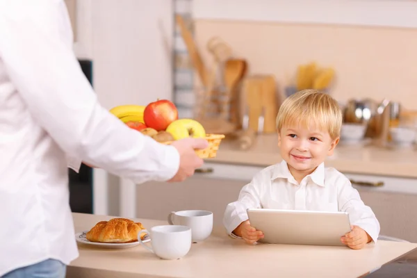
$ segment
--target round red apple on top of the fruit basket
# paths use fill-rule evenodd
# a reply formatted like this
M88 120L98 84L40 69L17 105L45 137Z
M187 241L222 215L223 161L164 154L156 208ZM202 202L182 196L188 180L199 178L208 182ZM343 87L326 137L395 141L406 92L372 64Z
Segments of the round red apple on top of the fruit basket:
M178 120L177 107L167 99L158 99L145 107L143 120L148 127L164 131L170 123Z

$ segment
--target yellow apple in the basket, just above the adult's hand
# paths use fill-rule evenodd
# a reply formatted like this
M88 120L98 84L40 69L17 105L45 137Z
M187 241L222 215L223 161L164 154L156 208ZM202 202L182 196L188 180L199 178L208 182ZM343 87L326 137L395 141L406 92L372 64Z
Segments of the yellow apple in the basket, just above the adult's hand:
M202 124L193 119L179 119L174 120L166 129L171 133L174 140L179 140L187 137L204 138L206 131Z

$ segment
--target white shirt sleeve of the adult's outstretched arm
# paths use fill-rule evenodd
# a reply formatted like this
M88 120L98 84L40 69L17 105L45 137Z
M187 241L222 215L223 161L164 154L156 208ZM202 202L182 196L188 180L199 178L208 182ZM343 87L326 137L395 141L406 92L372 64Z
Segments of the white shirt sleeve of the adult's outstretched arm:
M0 6L0 59L31 117L73 162L136 183L171 179L179 167L177 149L129 129L98 103L63 35L61 4L6 1Z

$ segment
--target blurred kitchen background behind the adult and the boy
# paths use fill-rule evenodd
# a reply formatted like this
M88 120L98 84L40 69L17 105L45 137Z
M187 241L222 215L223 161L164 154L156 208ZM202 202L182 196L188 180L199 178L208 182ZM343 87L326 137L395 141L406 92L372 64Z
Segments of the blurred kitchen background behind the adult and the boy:
M227 136L176 186L70 171L73 211L165 220L198 208L221 224L253 174L280 161L282 101L314 88L343 111L327 165L352 180L383 236L417 242L417 1L65 2L74 52L103 106L170 99L179 117Z

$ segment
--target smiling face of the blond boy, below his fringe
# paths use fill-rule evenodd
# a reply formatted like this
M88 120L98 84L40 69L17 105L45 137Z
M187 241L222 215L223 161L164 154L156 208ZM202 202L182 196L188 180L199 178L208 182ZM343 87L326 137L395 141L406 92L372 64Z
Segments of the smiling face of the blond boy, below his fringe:
M288 170L300 183L306 175L333 154L338 138L332 139L328 131L315 126L282 126L278 133L278 146L281 157L288 164Z

